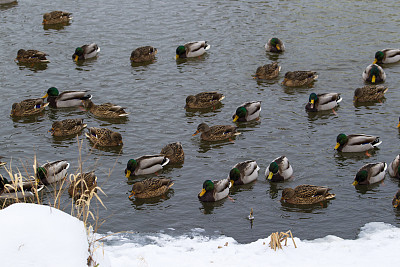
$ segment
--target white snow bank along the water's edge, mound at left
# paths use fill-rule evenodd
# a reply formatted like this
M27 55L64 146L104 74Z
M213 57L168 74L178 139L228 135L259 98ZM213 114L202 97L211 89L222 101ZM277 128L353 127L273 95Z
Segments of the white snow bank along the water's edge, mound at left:
M83 223L48 206L14 204L0 211L1 266L87 266L88 238ZM122 229L121 229L122 230ZM98 238L91 236L91 238ZM131 236L133 238L133 236ZM97 243L94 259L103 266L393 266L400 247L400 229L371 222L355 240L326 236L291 239L282 250L269 246L270 238L239 244L231 237L201 235L147 236L141 244L123 235ZM102 241L104 241L102 240Z

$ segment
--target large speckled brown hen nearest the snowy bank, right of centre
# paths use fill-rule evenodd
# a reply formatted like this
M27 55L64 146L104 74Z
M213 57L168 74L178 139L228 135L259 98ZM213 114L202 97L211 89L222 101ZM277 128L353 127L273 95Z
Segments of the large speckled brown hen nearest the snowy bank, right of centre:
M311 205L335 198L329 193L331 188L316 185L298 185L294 189L285 188L282 191L281 201L296 205Z

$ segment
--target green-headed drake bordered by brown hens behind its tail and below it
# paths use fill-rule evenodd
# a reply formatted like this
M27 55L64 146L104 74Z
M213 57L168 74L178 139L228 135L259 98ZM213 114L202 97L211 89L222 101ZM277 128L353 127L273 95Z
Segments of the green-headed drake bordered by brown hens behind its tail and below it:
M137 159L130 159L126 164L125 177L161 171L168 162L169 159L164 155L145 155Z

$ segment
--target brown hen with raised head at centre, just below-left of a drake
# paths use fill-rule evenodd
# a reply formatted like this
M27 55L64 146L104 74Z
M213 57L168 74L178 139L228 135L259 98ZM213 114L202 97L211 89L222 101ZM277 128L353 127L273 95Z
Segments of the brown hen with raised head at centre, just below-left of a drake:
M193 136L201 133L200 138L204 141L221 141L239 135L240 133L236 129L237 127L234 125L214 125L209 127L206 123L202 122L197 126L197 131Z

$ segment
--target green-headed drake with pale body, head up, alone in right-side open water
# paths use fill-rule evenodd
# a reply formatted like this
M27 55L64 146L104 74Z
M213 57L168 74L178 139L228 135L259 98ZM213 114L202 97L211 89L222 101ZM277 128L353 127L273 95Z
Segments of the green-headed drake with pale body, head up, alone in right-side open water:
M336 137L335 149L340 152L364 152L379 146L379 136L365 134L339 134Z

